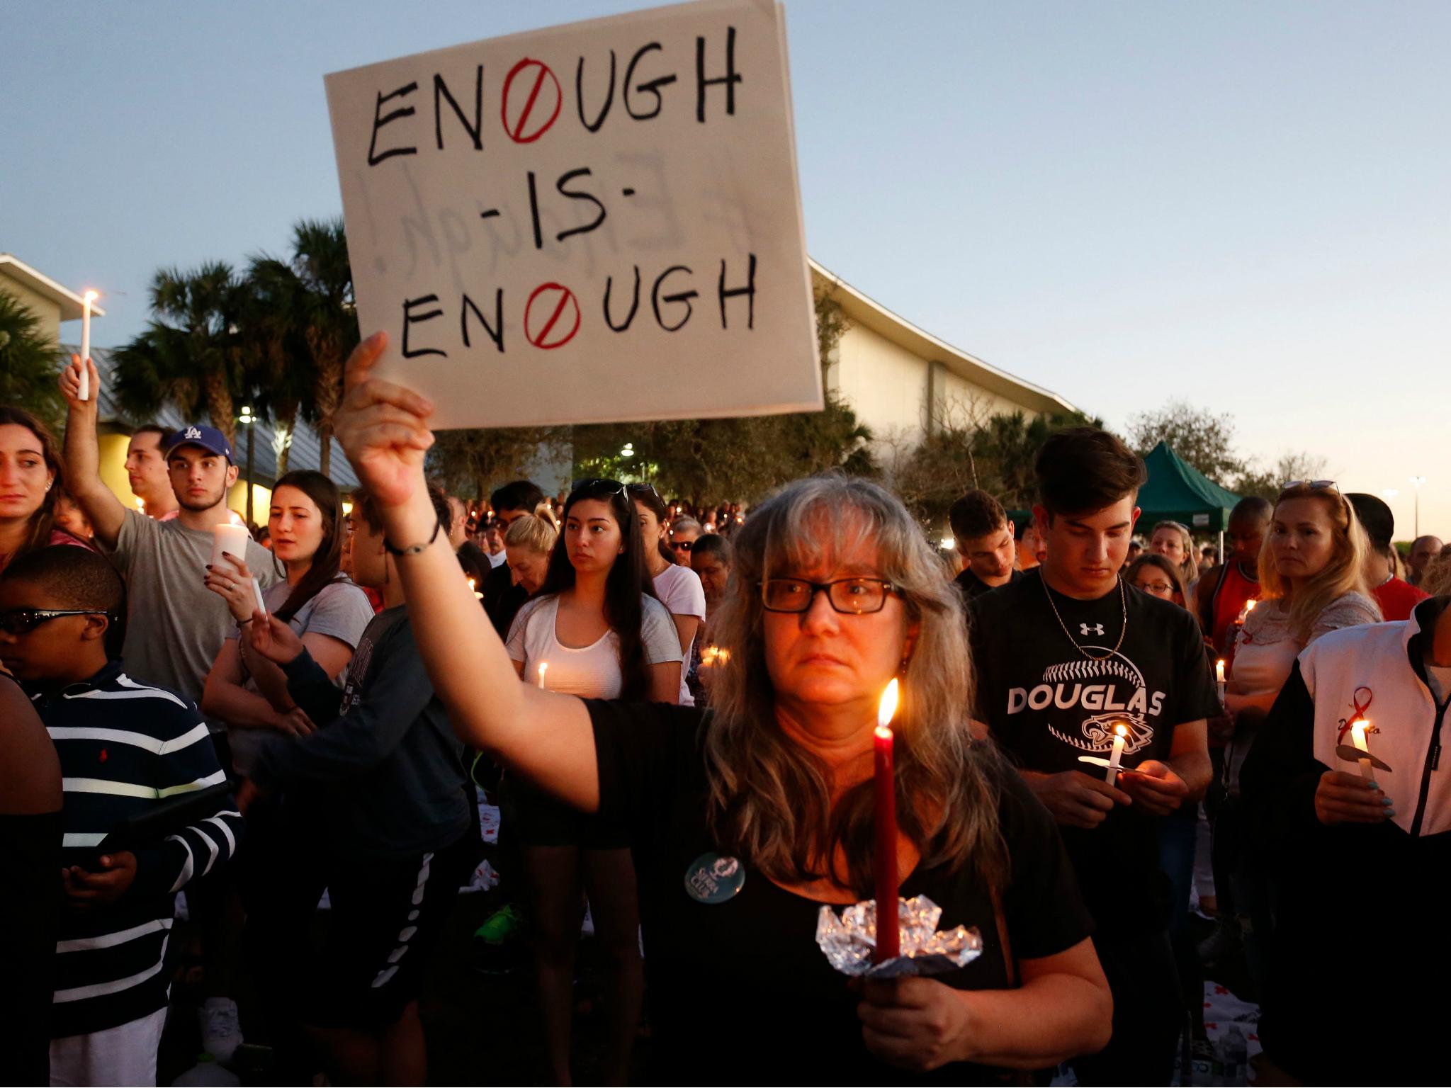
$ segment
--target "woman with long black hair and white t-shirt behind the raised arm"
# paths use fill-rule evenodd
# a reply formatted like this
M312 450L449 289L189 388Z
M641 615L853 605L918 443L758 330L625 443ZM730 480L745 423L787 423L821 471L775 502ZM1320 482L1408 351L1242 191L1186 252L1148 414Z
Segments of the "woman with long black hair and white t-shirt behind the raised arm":
M585 480L564 500L563 521L544 585L509 628L514 669L528 686L586 699L675 702L681 691L681 644L670 614L650 588L646 556L651 545L640 532L624 485ZM493 698L505 695L495 692ZM583 875L595 937L607 960L605 1079L624 1084L644 1000L640 908L627 828L621 821L583 818L519 782L511 794L533 897L530 917L550 1076L556 1084L570 1084L569 1029Z

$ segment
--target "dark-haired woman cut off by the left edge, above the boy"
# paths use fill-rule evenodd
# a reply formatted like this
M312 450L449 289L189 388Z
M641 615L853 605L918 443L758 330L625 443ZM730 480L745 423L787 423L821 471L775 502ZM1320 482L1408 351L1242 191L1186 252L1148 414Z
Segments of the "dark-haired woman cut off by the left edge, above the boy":
M87 547L55 522L62 489L49 428L22 408L0 405L0 570L49 544Z

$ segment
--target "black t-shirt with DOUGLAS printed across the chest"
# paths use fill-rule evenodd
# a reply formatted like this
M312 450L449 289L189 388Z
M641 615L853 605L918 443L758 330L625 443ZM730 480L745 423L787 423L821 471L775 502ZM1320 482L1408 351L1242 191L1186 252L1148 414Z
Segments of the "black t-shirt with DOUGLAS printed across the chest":
M1219 714L1199 624L1178 605L1126 586L1127 631L1119 589L1097 601L1053 593L1042 572L978 598L969 612L978 677L978 717L1029 770L1104 775L1080 756L1107 759L1114 725L1129 727L1123 766L1167 760L1174 727ZM1072 632L1072 638L1064 632ZM1168 924L1170 882L1159 869L1161 820L1116 807L1091 831L1064 827L1084 901L1104 937Z

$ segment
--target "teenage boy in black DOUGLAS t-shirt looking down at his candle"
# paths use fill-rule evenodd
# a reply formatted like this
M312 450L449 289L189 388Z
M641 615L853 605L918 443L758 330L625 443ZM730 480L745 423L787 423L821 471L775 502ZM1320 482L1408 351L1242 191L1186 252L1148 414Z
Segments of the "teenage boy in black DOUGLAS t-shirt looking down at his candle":
M1080 1082L1168 1084L1184 1008L1159 823L1209 785L1219 704L1194 617L1119 577L1143 461L1074 428L1043 444L1035 473L1048 557L971 606L978 714L1058 820L1094 915L1113 1039L1074 1062ZM1132 770L1111 786L1080 757L1110 759L1119 725Z

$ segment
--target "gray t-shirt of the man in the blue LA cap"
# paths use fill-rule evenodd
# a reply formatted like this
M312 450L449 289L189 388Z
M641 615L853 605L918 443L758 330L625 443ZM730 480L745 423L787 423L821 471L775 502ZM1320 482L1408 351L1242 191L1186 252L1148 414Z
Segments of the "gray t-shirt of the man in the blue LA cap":
M206 675L235 628L226 602L203 585L212 532L126 511L112 554L126 577L129 601L122 648L126 673L181 692L200 706ZM254 541L247 541L247 567L264 590L279 579L273 554Z

